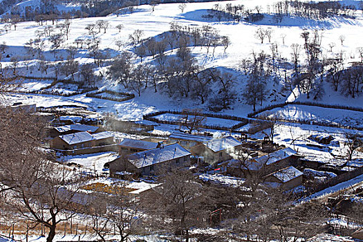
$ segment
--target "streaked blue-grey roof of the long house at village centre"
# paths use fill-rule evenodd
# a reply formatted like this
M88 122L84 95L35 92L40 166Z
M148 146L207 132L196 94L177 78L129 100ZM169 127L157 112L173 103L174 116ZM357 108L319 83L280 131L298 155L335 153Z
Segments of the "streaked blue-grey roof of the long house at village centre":
M127 158L131 164L141 168L190 155L191 153L180 145L173 144L166 145L163 148L161 147L133 153L127 156Z

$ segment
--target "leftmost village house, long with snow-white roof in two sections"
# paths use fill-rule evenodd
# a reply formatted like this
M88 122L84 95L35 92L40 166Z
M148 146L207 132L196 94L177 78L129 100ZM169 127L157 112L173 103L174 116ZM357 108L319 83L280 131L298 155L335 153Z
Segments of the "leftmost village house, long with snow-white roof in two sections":
M83 131L54 138L50 142L50 148L63 150L82 149L111 144L113 144L113 134L108 131L93 134Z

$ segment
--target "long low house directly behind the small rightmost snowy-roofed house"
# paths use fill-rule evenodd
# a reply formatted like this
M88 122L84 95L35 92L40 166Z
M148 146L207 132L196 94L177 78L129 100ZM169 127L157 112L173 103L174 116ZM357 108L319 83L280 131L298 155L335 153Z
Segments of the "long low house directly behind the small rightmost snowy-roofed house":
M241 160L225 162L225 171L232 176L243 177L245 174L270 174L279 169L295 165L298 158L297 152L291 148L279 149L259 158L248 156Z

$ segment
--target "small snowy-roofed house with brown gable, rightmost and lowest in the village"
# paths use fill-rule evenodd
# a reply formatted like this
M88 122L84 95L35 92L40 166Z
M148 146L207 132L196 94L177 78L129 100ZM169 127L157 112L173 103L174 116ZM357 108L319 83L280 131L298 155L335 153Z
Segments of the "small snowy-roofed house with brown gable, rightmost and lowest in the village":
M279 169L266 178L266 182L277 184L283 190L290 190L302 184L303 173L295 167Z

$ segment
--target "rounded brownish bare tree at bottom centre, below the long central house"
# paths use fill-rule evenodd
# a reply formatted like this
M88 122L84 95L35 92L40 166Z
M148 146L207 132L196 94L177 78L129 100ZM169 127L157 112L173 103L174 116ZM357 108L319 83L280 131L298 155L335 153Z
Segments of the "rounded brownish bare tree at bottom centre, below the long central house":
M151 225L181 234L187 242L191 228L205 223L203 186L190 171L180 169L171 169L160 181L162 185L149 193L147 201L150 203L145 203L151 214Z

